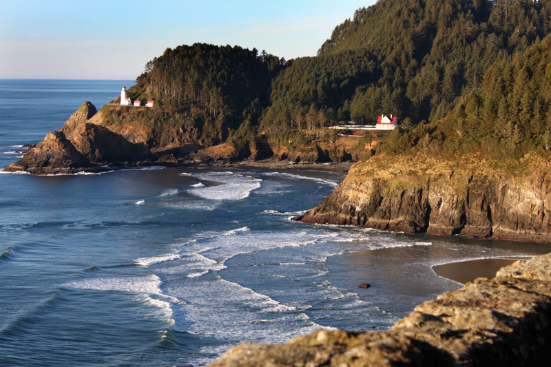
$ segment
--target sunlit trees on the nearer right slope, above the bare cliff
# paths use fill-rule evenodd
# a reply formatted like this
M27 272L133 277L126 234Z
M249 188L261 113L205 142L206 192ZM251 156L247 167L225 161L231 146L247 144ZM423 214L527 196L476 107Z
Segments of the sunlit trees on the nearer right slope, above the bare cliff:
M453 114L396 130L382 151L520 158L551 155L551 35L512 61L497 61L481 87L461 98Z

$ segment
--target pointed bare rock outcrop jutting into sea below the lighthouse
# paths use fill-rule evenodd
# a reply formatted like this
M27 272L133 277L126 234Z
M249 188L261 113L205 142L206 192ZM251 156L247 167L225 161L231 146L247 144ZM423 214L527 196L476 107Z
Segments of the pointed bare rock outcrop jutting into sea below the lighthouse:
M102 165L129 165L145 160L149 149L130 143L109 129L88 123L96 114L90 102L65 121L59 130L25 151L21 160L5 171L28 171L30 174L72 174L76 171L101 171Z

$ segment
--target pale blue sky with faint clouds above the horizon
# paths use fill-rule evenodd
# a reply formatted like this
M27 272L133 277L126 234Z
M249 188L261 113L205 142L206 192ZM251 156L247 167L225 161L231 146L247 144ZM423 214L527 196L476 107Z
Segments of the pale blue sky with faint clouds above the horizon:
M375 0L0 0L0 78L134 79L166 48L240 45L315 56Z

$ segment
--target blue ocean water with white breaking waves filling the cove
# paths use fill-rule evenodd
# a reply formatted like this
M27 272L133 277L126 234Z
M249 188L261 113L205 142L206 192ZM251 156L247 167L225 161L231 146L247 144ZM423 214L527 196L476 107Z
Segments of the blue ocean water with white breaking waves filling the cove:
M1 80L0 166L122 84L132 81ZM202 366L246 340L384 330L460 287L435 264L550 250L289 219L342 178L163 167L0 174L0 364Z

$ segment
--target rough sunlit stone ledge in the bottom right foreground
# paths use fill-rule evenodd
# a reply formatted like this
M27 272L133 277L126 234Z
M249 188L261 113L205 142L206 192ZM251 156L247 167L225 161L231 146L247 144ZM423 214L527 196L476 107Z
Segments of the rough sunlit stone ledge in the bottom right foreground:
M211 367L547 366L551 254L425 302L390 331L316 331L288 344L244 343Z

